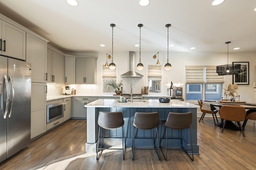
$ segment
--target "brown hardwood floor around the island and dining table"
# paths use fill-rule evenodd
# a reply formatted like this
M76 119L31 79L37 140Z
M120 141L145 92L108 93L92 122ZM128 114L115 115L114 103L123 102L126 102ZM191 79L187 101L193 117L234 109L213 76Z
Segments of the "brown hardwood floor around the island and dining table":
M199 117L198 117L199 120ZM104 151L96 161L96 154L84 154L86 121L70 120L32 141L31 145L0 164L1 170L256 170L256 124L248 121L245 137L240 131L214 126L212 117L198 123L200 155L192 162L183 151L168 151L168 160L158 161L154 150L126 149L125 161L121 150ZM163 149L164 150L164 149ZM46 166L46 167L45 167Z

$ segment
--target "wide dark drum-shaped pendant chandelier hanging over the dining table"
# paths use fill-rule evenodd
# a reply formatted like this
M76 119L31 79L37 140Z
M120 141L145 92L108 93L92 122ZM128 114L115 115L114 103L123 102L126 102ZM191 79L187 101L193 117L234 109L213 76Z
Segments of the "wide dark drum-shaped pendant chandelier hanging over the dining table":
M231 42L228 41L226 44L230 44ZM225 64L220 65L216 67L216 72L218 75L224 76L224 75L233 75L238 74L241 70L241 64Z

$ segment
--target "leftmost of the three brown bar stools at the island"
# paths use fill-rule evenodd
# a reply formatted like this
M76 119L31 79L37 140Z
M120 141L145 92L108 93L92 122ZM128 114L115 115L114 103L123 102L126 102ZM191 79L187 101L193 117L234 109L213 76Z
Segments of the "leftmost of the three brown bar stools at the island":
M124 118L122 112L106 112L100 111L98 116L98 125L99 127L99 134L98 134L98 144L97 144L97 157L96 160L99 159L100 155L102 154L103 150L105 149L114 149L114 148L104 148L104 129L117 129L122 127L122 142L123 147L120 148L123 150L123 160L124 160L124 152L125 152L125 141L124 141ZM102 136L102 145L99 148L100 143L100 129L102 128L103 136ZM105 147L112 147L112 146L105 146ZM98 154L98 150L100 153ZM116 149L114 149L116 150Z

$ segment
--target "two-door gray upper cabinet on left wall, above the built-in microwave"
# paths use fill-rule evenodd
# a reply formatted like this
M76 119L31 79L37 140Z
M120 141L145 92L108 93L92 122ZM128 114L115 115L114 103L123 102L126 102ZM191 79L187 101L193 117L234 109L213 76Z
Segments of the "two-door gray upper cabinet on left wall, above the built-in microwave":
M63 83L64 55L47 49L47 82Z

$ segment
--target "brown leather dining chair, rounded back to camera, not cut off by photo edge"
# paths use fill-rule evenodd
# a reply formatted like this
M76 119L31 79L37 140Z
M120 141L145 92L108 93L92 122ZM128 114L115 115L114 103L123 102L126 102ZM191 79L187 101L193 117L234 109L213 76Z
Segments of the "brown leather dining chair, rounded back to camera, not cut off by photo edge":
M242 129L240 121L244 121L246 110L242 106L234 106L234 105L223 105L219 110L220 118L222 119L222 131L224 131L224 127L226 121L236 121L239 125L240 131L244 137L244 131Z

